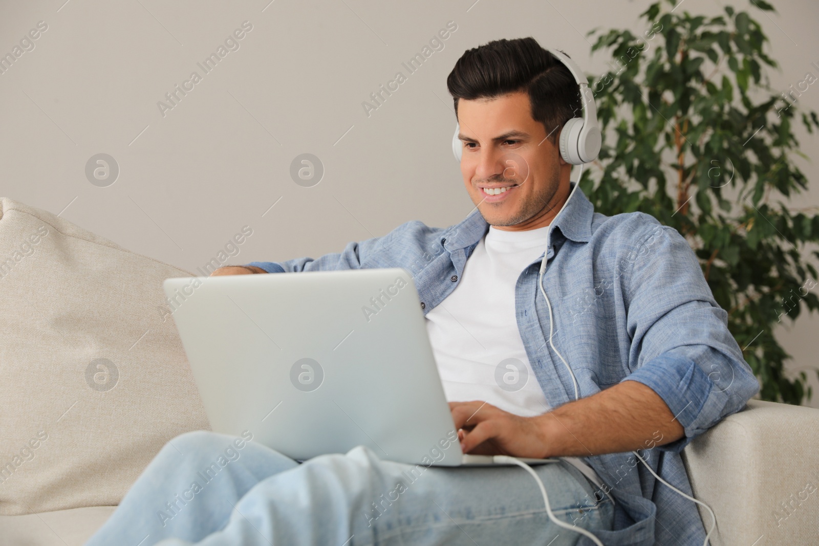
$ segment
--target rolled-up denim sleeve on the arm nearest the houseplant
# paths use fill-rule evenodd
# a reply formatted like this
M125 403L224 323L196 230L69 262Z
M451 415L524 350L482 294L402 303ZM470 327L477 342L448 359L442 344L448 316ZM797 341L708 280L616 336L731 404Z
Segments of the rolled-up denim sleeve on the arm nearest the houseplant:
M639 381L663 399L685 436L658 449L680 452L742 409L759 383L728 331L728 314L676 230L663 228L644 241L625 288L631 373L623 381Z

